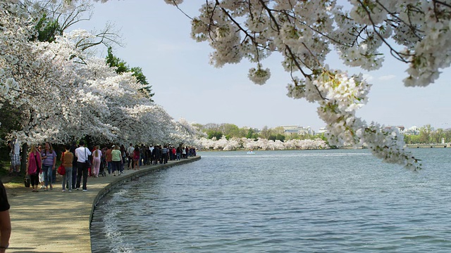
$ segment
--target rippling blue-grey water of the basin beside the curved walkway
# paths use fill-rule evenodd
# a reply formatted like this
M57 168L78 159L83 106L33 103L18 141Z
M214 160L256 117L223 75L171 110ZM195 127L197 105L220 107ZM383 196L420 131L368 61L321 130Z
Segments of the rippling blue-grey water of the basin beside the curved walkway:
M413 173L369 150L204 152L125 183L93 252L451 252L451 148Z

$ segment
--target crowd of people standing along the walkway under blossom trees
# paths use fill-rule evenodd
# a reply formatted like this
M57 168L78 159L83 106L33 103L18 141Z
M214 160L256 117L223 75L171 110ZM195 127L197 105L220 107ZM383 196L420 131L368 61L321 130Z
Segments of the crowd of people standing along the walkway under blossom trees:
M20 143L16 140L8 142L11 147L11 171L20 172ZM16 149L18 147L18 149ZM132 145L128 148L124 145L109 145L100 148L94 145L91 150L85 147L85 142L80 141L66 145L61 153L61 164L65 168L62 175L63 192L72 190L87 191L87 178L99 177L108 174L120 176L123 174L124 165L128 169L140 169L142 165L166 164L168 160L180 160L188 156L196 155L195 148L178 147L171 145ZM30 178L32 192L38 192L39 186L44 191L53 190L56 181L57 155L51 143L31 145L27 157L26 176Z

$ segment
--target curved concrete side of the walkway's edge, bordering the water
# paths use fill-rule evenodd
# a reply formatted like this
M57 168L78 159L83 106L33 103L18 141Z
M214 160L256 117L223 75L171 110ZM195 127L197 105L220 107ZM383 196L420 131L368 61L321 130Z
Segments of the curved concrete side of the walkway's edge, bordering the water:
M194 162L197 160L200 160L200 156L196 157L190 157L190 159L183 159L180 161L177 161L176 163L167 163L167 164L160 164L156 167L152 167L152 165L149 165L149 168L141 169L139 171L135 171L131 174L127 174L124 176L118 176L115 180L111 181L108 185L106 185L103 189L99 190L99 193L97 193L97 196L94 197L94 202L92 202L92 208L91 208L91 214L89 214L89 234L91 233L91 223L92 223L92 215L94 214L94 210L97 207L97 204L99 204L99 201L102 197L104 197L106 194L108 194L113 188L116 188L118 184L132 181L132 179L137 179L141 176L146 176L147 174L150 174L154 171L160 171L161 169L168 169L175 166L180 166L182 164L187 164L190 162ZM91 242L92 245L92 242Z

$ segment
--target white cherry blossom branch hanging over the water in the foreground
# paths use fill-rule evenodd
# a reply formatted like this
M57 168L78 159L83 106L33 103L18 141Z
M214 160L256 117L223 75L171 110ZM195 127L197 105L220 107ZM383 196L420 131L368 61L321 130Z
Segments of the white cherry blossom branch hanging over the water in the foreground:
M165 0L178 6L183 1ZM428 0L206 1L192 18L192 37L214 49L211 63L222 66L247 58L257 67L249 79L269 77L262 60L278 52L292 78L288 96L318 103L319 117L335 145L368 145L385 162L421 169L404 150L402 136L378 123L355 117L370 85L361 75L330 70L326 56L338 51L345 65L377 70L381 48L407 65L405 86L427 86L451 64L451 4ZM344 4L344 3L343 3ZM183 8L183 7L180 7Z

